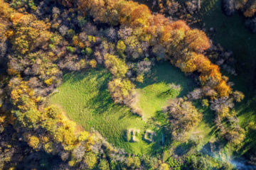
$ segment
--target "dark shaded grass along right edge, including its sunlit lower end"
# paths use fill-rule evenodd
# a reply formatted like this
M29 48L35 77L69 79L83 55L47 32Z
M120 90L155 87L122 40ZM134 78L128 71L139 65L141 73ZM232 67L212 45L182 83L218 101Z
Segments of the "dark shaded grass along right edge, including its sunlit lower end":
M250 122L256 123L256 107L253 99L255 96L256 35L250 33L245 27L246 18L242 16L242 13L238 12L234 16L225 16L220 0L204 0L198 18L206 23L208 30L211 27L216 29L213 35L209 34L210 38L215 44L219 43L224 49L232 50L232 57L237 61L235 69L238 72L238 77L223 73L228 75L230 81L235 83L234 90L242 91L245 94L245 99L241 103L235 104L235 112L240 120L240 126L245 128ZM247 130L246 139L242 142L240 149L230 146L233 154L244 154L252 146L256 138L255 135L250 135L251 132L249 131Z

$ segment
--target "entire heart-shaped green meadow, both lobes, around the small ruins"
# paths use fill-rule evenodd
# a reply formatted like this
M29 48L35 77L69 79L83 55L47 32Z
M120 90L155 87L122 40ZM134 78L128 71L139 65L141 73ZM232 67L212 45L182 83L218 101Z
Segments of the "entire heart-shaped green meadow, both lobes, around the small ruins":
M164 72L169 72L169 76L163 75ZM141 94L139 105L146 104L149 108L152 105L151 111L142 107L143 112L148 113L149 120L146 122L132 114L126 106L117 105L112 101L107 91L107 83L110 79L111 74L103 68L66 73L63 76L63 84L58 87L59 92L50 96L48 105L60 106L71 120L82 125L85 130L98 130L114 146L124 148L129 153L161 152L160 142L164 133L161 125L166 123L166 120L160 120L162 113L157 111L161 110L161 106L164 106L169 98L186 94L192 89L193 81L186 79L184 74L171 64L154 67L151 77L145 80L145 84L137 84L139 87L137 90ZM181 84L183 90L171 91L167 96L159 96L170 90L169 83ZM188 88L188 85L191 86ZM146 99L146 93L149 94L150 100ZM131 142L127 139L129 129L140 131L137 135L139 142ZM144 140L145 130L156 132L154 142Z

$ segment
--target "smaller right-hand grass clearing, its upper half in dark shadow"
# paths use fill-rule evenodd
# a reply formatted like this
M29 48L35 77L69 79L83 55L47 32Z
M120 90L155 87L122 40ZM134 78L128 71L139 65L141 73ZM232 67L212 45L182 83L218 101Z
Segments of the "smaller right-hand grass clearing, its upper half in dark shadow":
M156 65L149 77L143 84L137 84L138 106L142 108L145 118L161 111L169 99L185 96L195 88L193 80L185 77L180 69L170 67L169 63ZM181 89L171 89L169 84L180 85Z

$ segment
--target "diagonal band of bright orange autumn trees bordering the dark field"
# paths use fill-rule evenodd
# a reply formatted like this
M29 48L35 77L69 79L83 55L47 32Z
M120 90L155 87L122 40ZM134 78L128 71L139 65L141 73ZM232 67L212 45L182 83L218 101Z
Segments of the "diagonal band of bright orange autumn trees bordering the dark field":
M153 15L147 6L134 1L79 0L79 8L102 23L114 26L120 23L134 30L142 30L137 33L139 39L152 46L162 45L176 67L183 72L201 72L201 77L208 77L205 81L215 81L211 87L218 91L220 97L230 94L231 88L222 79L218 66L201 55L210 47L209 39L203 31L189 28L184 21L170 22L161 14ZM155 41L156 36L160 36L158 42Z

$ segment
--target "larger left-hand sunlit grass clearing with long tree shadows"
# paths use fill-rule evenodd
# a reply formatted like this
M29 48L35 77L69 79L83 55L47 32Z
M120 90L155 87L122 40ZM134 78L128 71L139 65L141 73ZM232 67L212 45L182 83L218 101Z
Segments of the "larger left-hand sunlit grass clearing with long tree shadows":
M50 97L48 104L57 104L68 117L82 125L85 130L92 128L101 132L107 140L127 152L143 152L148 145L127 142L126 130L144 130L146 123L129 108L114 104L107 91L111 74L105 69L90 69L87 72L65 74L58 94ZM142 151L138 146L142 146ZM146 146L146 147L144 147Z

